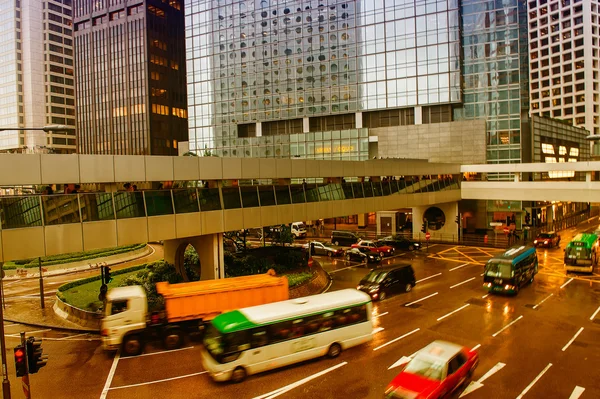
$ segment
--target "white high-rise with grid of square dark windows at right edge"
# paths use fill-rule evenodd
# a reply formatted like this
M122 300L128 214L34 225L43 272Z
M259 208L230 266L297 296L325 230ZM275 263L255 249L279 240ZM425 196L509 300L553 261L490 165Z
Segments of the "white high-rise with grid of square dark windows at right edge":
M532 0L527 5L531 113L600 134L600 4Z

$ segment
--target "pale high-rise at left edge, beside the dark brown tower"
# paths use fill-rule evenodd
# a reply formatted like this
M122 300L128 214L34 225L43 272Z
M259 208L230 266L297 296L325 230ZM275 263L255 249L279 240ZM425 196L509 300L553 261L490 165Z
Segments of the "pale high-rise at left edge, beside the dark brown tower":
M71 15L71 0L0 0L0 129L22 129L0 151L76 150Z

